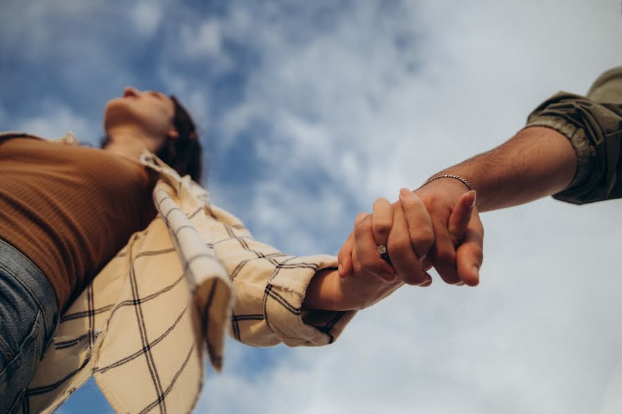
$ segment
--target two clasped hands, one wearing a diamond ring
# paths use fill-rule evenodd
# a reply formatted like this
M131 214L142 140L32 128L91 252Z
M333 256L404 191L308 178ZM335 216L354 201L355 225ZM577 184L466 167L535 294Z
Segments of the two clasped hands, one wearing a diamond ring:
M476 286L483 260L484 228L469 191L455 179L437 179L398 201L377 199L361 213L339 251L339 270L321 273L308 308L363 309L404 284L430 286L434 267L447 284ZM381 257L378 245L387 248ZM312 297L309 295L309 297ZM306 299L305 299L306 300Z

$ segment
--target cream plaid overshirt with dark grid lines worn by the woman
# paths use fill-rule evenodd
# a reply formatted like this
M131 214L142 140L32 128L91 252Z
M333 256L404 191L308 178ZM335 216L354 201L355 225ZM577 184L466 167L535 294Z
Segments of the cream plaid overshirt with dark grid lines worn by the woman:
M311 278L334 257L294 257L257 242L189 177L151 154L142 162L160 173L158 217L64 313L23 413L53 412L91 375L117 412L188 413L206 349L220 371L227 328L253 346L318 346L355 315L301 311Z

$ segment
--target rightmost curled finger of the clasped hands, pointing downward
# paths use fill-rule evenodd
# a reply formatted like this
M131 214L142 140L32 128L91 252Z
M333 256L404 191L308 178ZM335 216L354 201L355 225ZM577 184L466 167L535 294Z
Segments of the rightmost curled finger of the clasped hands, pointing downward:
M480 217L475 212L469 228L466 230L464 241L456 251L458 276L468 286L477 286L480 283L480 268L484 260L484 227Z

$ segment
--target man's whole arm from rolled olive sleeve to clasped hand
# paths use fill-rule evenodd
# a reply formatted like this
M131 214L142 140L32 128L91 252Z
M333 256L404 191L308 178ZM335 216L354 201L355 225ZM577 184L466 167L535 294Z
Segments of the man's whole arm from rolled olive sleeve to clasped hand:
M527 128L505 144L431 177L459 176L477 191L464 235L457 237L452 224L457 201L468 191L465 184L447 177L415 190L435 235L426 257L445 282L475 286L483 259L479 210L516 206L547 195L574 204L622 197L621 155L622 67L603 73L586 97L554 95L531 113ZM373 233L372 226L368 233ZM357 242L355 237L340 252L344 275L352 268L349 253ZM415 244L415 239L411 242ZM371 249L368 255L373 255ZM411 271L416 273L417 268Z

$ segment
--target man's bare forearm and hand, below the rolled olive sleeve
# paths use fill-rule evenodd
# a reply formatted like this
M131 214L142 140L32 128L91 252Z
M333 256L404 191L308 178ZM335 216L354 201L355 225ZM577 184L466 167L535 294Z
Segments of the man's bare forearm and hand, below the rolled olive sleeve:
M433 175L455 175L477 191L464 237L451 229L453 206L467 188L455 178L441 178L415 190L428 209L435 243L428 257L448 284L479 283L484 228L478 211L527 203L563 190L575 175L576 155L568 139L552 128L533 126L501 146Z

